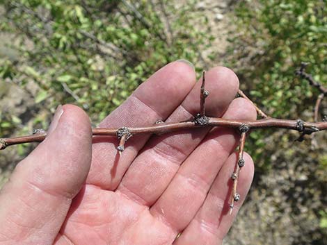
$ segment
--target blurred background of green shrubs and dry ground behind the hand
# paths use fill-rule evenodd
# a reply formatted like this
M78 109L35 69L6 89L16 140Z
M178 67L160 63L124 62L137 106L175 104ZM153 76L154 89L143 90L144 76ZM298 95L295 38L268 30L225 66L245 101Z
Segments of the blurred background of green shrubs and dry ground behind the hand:
M319 91L294 71L309 62L308 73L327 85L326 9L324 0L0 0L0 135L47 128L65 103L97 125L181 58L197 71L234 69L273 117L312 121ZM326 114L325 99L319 120ZM326 244L327 135L297 137L251 134L255 180L225 244ZM0 187L34 146L0 153Z

